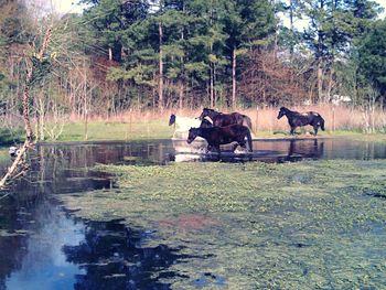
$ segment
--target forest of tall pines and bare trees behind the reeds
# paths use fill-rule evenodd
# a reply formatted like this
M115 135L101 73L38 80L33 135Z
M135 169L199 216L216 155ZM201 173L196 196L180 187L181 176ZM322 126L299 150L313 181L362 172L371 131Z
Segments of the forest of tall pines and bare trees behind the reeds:
M26 114L37 139L127 111L384 109L374 1L81 0L82 14L43 3L0 0L1 126L23 127Z

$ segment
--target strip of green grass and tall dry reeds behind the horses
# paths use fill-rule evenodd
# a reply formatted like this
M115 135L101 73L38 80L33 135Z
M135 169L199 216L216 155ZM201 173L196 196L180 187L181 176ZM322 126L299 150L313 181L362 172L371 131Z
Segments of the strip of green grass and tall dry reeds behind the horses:
M224 112L228 109L219 108ZM319 136L358 136L372 138L372 140L385 140L386 132L386 115L383 110L376 109L372 114L366 114L358 108L351 107L333 107L329 105L320 105L313 107L293 107L298 111L318 111L325 119L326 131L319 130ZM289 133L287 118L277 119L278 108L262 107L257 109L237 109L250 117L253 130L257 138L286 138ZM63 131L57 141L98 141L98 140L151 140L151 139L169 139L173 136L174 127L168 126L171 114L184 117L199 117L201 110L165 110L163 112L154 110L124 111L112 117L94 116L88 119L87 125L78 118L69 118L64 123ZM45 140L51 136L56 136L61 131L61 126L54 130L55 121L50 117L45 120L47 126L45 130ZM17 128L14 126L13 128ZM20 125L20 128L22 126ZM35 128L35 125L33 125ZM50 129L51 128L51 129ZM49 133L47 131L53 130ZM298 135L307 135L312 132L310 126L298 128ZM373 132L369 135L369 132ZM17 137L17 138L15 138ZM1 139L2 138L2 139ZM2 133L0 143L3 139L9 139L9 133ZM13 133L12 140L23 138L22 130Z

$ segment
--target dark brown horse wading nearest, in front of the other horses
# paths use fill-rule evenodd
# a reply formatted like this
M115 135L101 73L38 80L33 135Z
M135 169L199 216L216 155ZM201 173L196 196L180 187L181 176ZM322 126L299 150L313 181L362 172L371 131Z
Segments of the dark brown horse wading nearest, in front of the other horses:
M202 137L207 141L207 150L215 149L218 153L221 152L221 144L228 144L237 142L234 146L234 151L239 144L246 148L246 140L248 140L249 152L253 151L251 137L248 127L243 125L234 123L225 127L212 127L212 128L191 128L189 130L187 143L192 143L196 137Z

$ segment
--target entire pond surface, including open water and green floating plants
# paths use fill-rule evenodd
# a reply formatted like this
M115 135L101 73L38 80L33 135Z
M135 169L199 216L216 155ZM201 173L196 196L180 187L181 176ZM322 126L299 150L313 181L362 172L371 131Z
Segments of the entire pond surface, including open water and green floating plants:
M170 140L39 146L0 203L0 289L385 284L385 144L254 147L178 163Z

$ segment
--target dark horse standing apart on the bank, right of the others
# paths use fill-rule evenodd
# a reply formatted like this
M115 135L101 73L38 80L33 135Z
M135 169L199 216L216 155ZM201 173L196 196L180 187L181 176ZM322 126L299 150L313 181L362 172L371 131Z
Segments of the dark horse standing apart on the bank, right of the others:
M291 127L291 135L293 135L297 127L302 127L305 125L311 125L313 127L314 136L318 135L319 127L324 131L324 119L315 111L298 112L287 109L286 107L281 107L278 119L280 119L282 116L287 116L288 123Z

